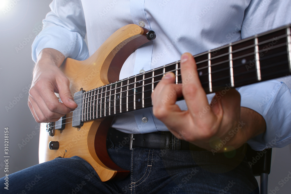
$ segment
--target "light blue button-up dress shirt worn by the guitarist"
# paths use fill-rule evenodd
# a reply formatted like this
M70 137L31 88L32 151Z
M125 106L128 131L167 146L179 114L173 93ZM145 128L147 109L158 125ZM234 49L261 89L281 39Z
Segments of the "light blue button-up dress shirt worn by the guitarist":
M184 52L196 55L291 23L289 0L54 0L50 8L43 30L33 42L34 61L44 48L84 60L127 24L155 31L157 38L125 61L120 79L177 61ZM280 81L237 88L241 106L260 113L267 124L266 133L249 140L254 149L291 143L291 81L290 77L284 79L287 85ZM213 96L207 96L209 101ZM184 101L178 105L187 109ZM148 122L142 122L143 117ZM152 108L118 115L112 127L126 133L168 130L152 115Z

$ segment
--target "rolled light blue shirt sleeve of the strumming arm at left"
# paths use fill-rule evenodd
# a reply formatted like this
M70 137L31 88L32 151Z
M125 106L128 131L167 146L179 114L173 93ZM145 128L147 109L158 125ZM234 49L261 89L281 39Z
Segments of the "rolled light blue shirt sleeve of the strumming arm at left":
M49 5L42 31L32 44L32 59L36 62L40 51L53 48L65 57L85 60L89 56L84 41L86 24L81 0L54 0Z

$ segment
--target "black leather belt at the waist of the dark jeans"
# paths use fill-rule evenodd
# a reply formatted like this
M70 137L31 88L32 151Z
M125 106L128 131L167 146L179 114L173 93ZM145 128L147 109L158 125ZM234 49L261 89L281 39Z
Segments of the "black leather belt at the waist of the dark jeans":
M130 149L147 148L205 151L205 149L176 138L169 131L160 131L148 134L127 134L114 128L110 128L108 138L112 143L116 145L128 146Z

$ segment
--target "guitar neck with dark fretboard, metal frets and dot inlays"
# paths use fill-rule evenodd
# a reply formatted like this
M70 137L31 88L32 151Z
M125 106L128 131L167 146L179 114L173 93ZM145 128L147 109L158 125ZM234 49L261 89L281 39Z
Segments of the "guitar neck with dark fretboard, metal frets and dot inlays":
M206 93L287 76L291 72L290 25L194 56ZM151 93L167 72L181 83L180 61L75 94L81 122L152 106ZM77 118L77 117L76 117ZM74 117L73 117L74 121Z

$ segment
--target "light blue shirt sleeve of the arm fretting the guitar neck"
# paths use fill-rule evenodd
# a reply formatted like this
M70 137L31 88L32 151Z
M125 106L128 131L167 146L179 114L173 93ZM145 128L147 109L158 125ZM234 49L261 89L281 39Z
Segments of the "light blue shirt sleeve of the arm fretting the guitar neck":
M242 23L247 38L291 23L291 1L251 0ZM248 141L253 149L284 147L291 143L291 78L271 80L239 88L241 106L258 112L266 121L266 132Z

